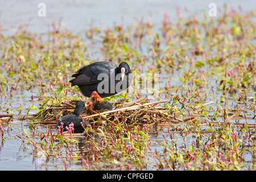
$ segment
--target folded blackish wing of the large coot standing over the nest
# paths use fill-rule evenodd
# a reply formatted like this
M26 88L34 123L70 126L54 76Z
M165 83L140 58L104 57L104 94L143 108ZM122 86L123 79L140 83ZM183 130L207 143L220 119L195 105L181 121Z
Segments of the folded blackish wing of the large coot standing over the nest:
M101 82L102 79L98 79L98 75L105 73L110 77L111 69L117 68L117 65L105 61L95 62L85 67L80 68L72 77L75 77L73 80L70 80L71 86L75 85L89 85L96 84Z

